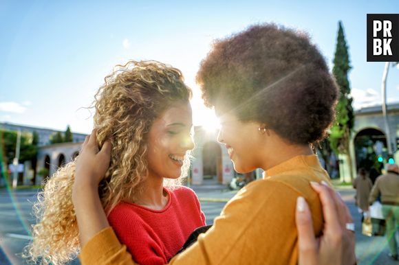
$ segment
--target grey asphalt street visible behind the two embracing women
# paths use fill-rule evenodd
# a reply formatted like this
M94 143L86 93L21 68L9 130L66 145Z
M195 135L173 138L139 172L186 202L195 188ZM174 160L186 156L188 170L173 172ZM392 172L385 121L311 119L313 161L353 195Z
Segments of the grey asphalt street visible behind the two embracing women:
M226 200L234 192L221 191L223 186L193 187L201 200L207 224L219 215ZM358 264L398 264L387 256L389 251L385 237L367 237L361 233L360 214L354 205L354 189L340 189L356 224L356 257ZM36 190L8 192L0 189L0 264L27 264L21 257L23 246L30 240L28 233L34 218L30 215L32 202L36 200ZM79 264L76 260L71 264Z

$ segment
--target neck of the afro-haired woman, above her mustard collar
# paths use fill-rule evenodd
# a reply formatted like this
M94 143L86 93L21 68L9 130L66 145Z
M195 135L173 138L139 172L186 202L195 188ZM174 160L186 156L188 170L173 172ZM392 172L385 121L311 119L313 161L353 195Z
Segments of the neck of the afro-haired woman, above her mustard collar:
M274 139L265 143L265 148L261 150L261 168L265 171L299 155L314 154L308 144L292 144L277 135L272 137Z

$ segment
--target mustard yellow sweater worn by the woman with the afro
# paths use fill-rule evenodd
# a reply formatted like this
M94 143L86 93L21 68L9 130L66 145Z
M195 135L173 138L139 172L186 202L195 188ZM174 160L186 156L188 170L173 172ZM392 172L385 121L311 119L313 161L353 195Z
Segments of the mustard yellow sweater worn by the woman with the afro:
M241 189L213 227L169 264L296 264L296 198L308 201L314 233L320 235L321 203L309 182L330 178L316 155L294 157L266 174ZM111 227L91 238L79 257L83 265L136 264Z

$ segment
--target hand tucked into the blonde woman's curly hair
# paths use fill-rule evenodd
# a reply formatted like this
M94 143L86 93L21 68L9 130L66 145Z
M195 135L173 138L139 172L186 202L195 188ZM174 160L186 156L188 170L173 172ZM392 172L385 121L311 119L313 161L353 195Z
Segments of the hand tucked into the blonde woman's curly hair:
M97 132L94 129L91 135L86 137L76 161L74 185L89 185L97 188L109 168L111 143L105 141L99 150L96 139Z

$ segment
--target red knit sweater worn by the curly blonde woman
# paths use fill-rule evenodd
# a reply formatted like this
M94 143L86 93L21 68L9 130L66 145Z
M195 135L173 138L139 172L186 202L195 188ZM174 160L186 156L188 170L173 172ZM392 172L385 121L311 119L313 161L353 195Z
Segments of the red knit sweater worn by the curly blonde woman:
M188 235L205 225L200 201L192 189L165 190L169 201L162 210L122 202L108 216L120 242L139 264L168 263Z

